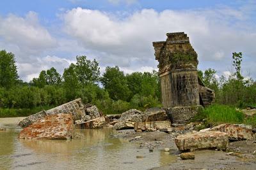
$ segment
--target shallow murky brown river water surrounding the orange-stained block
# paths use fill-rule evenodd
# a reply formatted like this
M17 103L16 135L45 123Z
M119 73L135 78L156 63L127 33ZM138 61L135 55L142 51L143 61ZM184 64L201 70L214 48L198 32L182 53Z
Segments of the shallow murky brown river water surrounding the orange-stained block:
M19 139L22 118L0 118L0 169L150 169L172 162L173 155L148 152L113 129L76 129L72 140ZM137 159L136 156L143 156Z

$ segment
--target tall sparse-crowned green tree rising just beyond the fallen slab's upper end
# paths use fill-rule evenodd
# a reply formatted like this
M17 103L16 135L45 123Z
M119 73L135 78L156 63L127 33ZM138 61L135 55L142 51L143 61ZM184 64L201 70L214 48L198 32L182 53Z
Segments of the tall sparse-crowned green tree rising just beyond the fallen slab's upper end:
M100 67L99 62L94 60L86 59L85 55L76 57L76 73L78 80L83 85L88 85L89 83L96 83L99 81Z

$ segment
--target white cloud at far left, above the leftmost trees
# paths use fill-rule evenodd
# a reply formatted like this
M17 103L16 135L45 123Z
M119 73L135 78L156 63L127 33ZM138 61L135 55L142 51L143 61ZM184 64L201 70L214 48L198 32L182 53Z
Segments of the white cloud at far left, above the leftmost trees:
M4 43L17 46L26 54L35 54L56 46L56 39L39 24L38 16L33 11L29 11L24 18L13 14L6 18L0 17L0 23L0 38L4 39Z

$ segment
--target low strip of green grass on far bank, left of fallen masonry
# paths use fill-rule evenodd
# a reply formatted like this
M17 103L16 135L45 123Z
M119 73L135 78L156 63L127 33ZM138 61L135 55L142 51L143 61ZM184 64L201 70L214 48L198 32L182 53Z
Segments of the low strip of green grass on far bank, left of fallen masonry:
M29 115L37 113L38 111L49 110L51 108L54 108L54 106L40 106L31 109L0 108L0 117L27 117Z

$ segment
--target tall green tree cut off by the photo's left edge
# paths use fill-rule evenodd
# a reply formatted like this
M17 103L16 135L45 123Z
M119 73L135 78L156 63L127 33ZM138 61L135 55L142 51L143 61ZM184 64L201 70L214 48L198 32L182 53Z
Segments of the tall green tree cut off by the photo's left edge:
M0 51L0 87L10 88L18 81L15 55L5 50Z

